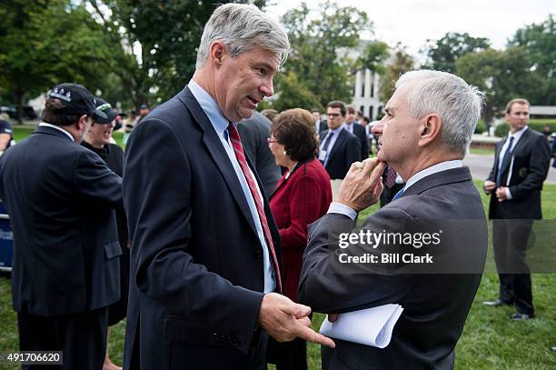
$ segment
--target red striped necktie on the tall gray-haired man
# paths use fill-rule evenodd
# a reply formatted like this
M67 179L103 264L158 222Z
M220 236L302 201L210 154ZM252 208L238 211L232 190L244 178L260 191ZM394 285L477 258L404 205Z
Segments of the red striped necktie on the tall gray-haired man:
M278 285L278 291L282 293L282 278L280 277L280 267L278 266L278 259L276 258L276 251L273 245L273 236L270 234L270 229L268 227L268 222L266 221L266 215L264 215L263 203L261 197L257 193L257 186L255 185L247 161L245 160L245 154L243 153L242 139L240 138L237 128L230 122L228 125L228 133L230 134L230 140L232 141L233 152L239 162L240 167L242 167L243 175L249 185L249 190L251 190L251 195L253 195L253 200L257 207L257 213L259 214L259 219L261 220L261 225L263 225L264 238L266 239L266 244L269 246L271 256L273 259L274 267L274 277L276 278L276 285Z

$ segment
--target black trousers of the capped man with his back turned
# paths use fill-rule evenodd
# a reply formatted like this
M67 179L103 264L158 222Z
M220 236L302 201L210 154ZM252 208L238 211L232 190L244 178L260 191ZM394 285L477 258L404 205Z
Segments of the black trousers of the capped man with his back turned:
M17 313L20 351L62 351L64 365L24 369L101 370L106 352L107 307L83 314L38 316Z

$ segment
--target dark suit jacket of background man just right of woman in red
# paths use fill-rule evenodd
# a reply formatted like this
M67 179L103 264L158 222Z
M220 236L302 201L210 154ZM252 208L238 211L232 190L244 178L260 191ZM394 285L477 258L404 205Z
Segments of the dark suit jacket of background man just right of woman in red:
M328 131L321 132L321 143L326 137ZM330 178L343 178L347 174L353 162L359 161L361 158L361 144L359 139L345 129L340 131L336 142L332 148L332 152L328 157L328 162L324 167Z

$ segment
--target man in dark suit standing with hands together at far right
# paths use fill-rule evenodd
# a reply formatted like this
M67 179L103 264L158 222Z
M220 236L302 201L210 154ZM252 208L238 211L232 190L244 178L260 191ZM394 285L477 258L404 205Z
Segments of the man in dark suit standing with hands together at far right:
M542 183L551 165L545 136L529 129L530 104L512 99L504 118L507 138L496 145L491 174L484 189L491 194L494 260L500 279L499 297L485 305L514 305L512 320L534 317L531 274L525 255L533 220L541 219Z

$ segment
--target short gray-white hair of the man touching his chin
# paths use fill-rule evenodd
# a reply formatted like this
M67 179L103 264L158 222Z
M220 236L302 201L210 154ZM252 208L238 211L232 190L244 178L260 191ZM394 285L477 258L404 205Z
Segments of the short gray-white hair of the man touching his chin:
M396 88L416 81L407 95L414 118L435 113L442 119L442 142L453 152L465 154L481 116L484 94L461 77L441 71L410 71L396 82Z

